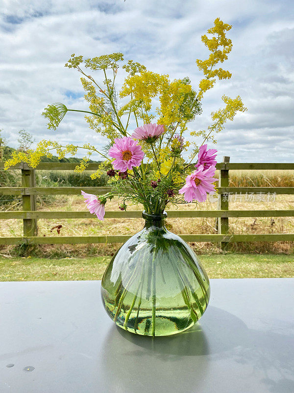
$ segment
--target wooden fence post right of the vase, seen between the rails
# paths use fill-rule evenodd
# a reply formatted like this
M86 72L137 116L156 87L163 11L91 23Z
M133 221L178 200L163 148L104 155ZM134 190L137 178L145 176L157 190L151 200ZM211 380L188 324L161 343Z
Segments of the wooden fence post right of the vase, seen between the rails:
M230 157L224 156L222 159L223 163L229 163ZM228 187L229 186L229 170L221 169L219 173L219 187ZM229 210L229 196L227 194L219 194L219 210ZM229 219L228 217L219 217L218 218L218 233L220 235L226 235L229 231ZM221 250L226 250L228 246L228 242L220 243Z

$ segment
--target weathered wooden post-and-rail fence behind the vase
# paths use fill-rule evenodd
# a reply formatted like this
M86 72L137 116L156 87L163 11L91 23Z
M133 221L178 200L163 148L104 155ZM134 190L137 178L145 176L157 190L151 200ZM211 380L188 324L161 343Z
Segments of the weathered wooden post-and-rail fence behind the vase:
M0 237L0 244L86 244L86 243L121 243L127 240L129 235L109 236L37 236L38 219L80 219L93 218L88 211L37 211L36 195L78 195L81 187L36 187L35 170L73 170L75 163L41 163L36 169L29 168L21 163L11 169L21 169L22 187L0 187L2 195L21 195L23 199L23 211L0 212L0 219L22 219L24 221L23 237ZM3 164L0 163L0 169ZM88 169L96 170L97 164L90 164ZM294 187L229 187L230 169L292 169L290 164L247 164L230 163L229 157L224 157L223 162L217 164L219 169L219 203L218 210L193 210L193 211L169 211L169 217L215 217L217 221L217 234L183 234L181 237L189 242L220 242L221 248L225 249L228 242L253 242L253 241L294 241L294 234L228 234L229 217L294 217L294 210L229 210L230 194L253 195L267 194L294 194ZM85 192L104 194L109 187L82 187ZM107 211L105 218L137 218L141 217L140 211Z

